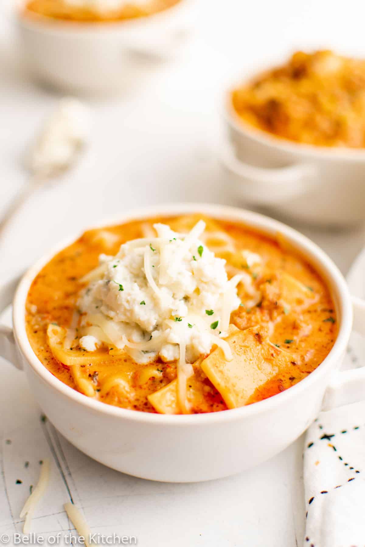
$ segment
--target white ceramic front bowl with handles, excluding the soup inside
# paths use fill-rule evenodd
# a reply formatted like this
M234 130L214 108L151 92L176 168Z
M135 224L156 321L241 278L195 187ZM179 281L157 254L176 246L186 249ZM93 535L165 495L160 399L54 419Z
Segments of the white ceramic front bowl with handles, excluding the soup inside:
M102 225L191 212L244 222L274 237L280 232L327 280L339 334L326 359L296 386L243 408L179 416L120 409L66 386L40 363L30 346L25 301L39 270L71 241L58 245L22 277L13 300L14 331L7 327L0 330L0 355L25 370L34 397L66 439L108 467L159 481L202 481L238 473L285 449L321 408L361 400L365 393L363 369L338 372L352 329L346 282L327 255L297 231L250 211L204 204L149 207L120 214L117 220L109 219ZM1 309L11 301L14 288L15 282L2 287ZM355 309L356 325L364 330L365 305L356 300Z

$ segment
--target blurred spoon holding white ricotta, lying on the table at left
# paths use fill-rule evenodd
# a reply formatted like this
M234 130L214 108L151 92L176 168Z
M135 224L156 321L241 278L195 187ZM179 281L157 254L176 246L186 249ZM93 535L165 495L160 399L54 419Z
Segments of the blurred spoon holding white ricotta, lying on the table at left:
M89 133L88 108L75 98L63 98L27 155L27 167L31 176L0 220L0 236L28 197L74 165Z

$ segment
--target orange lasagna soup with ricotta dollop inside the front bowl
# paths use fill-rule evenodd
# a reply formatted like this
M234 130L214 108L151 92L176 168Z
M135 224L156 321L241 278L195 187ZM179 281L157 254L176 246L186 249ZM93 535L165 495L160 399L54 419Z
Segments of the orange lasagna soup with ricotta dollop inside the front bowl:
M271 397L337 336L326 283L279 236L196 215L85 232L34 279L26 328L66 385L161 414Z

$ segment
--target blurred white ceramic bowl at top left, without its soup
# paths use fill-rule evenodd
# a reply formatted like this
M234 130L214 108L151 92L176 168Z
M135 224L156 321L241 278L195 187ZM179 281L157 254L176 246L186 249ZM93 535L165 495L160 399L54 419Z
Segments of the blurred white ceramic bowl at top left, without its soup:
M15 18L22 54L44 83L83 94L113 94L176 53L193 25L193 1L180 0L145 18L95 24L24 16L21 0Z

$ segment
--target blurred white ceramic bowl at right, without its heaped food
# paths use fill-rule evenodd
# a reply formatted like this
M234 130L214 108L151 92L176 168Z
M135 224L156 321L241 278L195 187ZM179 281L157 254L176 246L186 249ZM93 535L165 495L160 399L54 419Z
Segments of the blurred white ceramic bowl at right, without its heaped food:
M247 80L249 81L249 79ZM318 225L365 220L365 150L300 144L242 121L224 96L227 188L245 203Z

